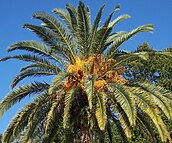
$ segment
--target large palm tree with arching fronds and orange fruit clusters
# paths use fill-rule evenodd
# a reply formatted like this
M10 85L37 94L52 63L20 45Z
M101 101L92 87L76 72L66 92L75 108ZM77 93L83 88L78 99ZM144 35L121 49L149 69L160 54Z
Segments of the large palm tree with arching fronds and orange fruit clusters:
M162 141L170 141L169 133L159 116L163 112L172 119L171 93L150 83L130 83L123 78L124 65L137 59L148 59L149 53L131 53L119 48L141 32L151 32L153 26L143 25L129 32L114 32L113 27L129 15L111 21L116 10L100 26L103 5L91 24L89 8L79 2L77 8L53 11L63 20L36 12L33 18L40 26L25 24L42 42L22 41L12 44L8 51L25 51L1 59L17 59L29 63L11 83L12 91L0 103L0 117L26 96L34 100L26 104L9 123L2 142L34 142L40 132L41 142L103 142L108 135L112 142L111 125L116 125L123 140L131 138L141 126L152 142L155 135L146 124L149 116ZM29 52L31 54L27 54ZM171 56L168 52L157 52ZM31 82L16 85L27 77L54 75L51 83Z

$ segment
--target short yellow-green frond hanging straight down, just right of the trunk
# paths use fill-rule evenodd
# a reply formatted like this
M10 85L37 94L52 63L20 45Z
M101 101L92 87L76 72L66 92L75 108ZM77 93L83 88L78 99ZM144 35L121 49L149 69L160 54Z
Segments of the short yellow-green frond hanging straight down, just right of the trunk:
M96 119L100 130L104 130L107 122L106 115L106 95L103 92L96 92L97 104L96 104Z

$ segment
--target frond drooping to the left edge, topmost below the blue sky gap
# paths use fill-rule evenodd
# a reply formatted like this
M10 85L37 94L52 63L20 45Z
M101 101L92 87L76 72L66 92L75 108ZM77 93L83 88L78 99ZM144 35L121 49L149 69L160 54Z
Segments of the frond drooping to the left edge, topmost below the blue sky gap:
M4 99L0 103L0 117L7 111L11 106L15 103L20 102L24 97L41 93L49 88L47 83L35 82L31 84L26 84L24 86L20 86L12 90L9 94L7 94Z

